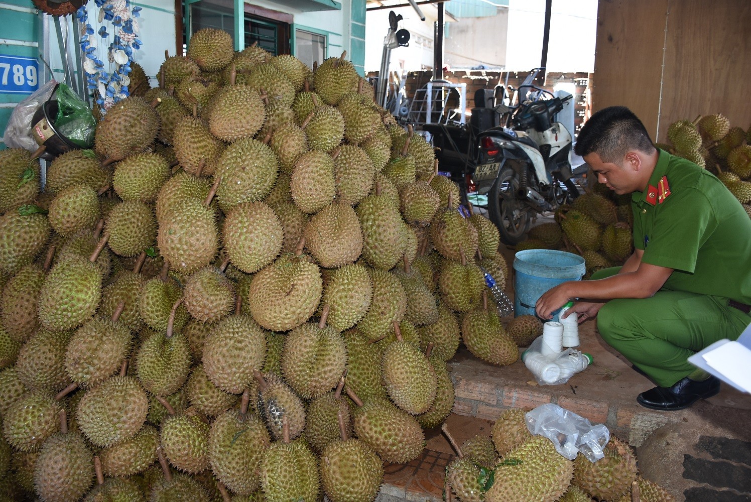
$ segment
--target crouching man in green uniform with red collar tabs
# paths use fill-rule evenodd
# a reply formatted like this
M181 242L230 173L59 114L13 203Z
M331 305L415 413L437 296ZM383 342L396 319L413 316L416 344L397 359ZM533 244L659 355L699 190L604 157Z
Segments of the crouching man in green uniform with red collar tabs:
M621 268L550 289L538 316L579 298L579 322L597 316L602 338L657 387L637 401L681 410L719 392L689 356L736 340L751 323L751 219L709 171L657 150L626 107L595 113L576 153L617 194L632 194L635 250Z

